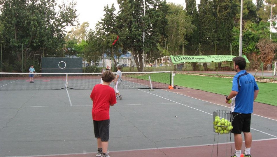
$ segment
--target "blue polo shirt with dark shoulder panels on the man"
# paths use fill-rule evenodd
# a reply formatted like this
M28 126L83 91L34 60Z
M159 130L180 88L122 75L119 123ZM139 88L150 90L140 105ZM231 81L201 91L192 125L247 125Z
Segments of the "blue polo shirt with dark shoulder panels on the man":
M254 76L241 70L233 78L232 91L238 92L232 99L231 111L253 113L254 91L259 90Z

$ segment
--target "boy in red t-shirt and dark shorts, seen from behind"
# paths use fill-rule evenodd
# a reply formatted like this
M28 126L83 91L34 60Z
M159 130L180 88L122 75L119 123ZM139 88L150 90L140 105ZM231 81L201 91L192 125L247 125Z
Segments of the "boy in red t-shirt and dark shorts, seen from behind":
M95 156L110 157L108 155L108 141L110 133L110 106L116 104L114 89L109 85L115 75L106 70L102 75L102 84L94 86L90 98L92 103L92 119L94 136L97 138L97 152Z

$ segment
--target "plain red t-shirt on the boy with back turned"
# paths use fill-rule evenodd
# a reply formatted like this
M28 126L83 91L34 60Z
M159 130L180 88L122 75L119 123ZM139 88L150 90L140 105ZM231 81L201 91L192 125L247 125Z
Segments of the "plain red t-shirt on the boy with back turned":
M108 85L97 84L94 86L90 98L92 102L92 119L107 120L110 119L110 104L116 104L115 91Z

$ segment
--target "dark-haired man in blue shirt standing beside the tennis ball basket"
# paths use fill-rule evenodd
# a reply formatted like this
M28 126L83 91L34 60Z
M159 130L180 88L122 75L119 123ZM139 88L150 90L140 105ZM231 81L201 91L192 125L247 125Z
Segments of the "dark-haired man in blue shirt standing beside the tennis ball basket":
M232 133L234 133L236 153L231 157L240 157L242 147L242 135L245 140L244 157L251 157L250 148L252 143L252 135L250 133L251 114L253 113L253 103L256 99L259 88L255 78L246 72L246 61L241 56L233 58L234 70L237 74L233 78L232 91L226 97L227 104L230 99L232 111Z

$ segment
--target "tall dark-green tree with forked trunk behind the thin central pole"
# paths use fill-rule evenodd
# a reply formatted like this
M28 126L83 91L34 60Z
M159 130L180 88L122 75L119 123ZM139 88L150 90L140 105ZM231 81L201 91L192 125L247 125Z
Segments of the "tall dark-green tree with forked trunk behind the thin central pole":
M150 53L159 54L157 43L164 43L168 6L165 1L145 1L145 16L143 16L143 1L118 0L118 5L120 11L115 28L120 36L118 44L122 47L123 53L132 52L138 71L142 71L143 50L147 57L157 56L150 56ZM145 32L144 46L143 31Z

